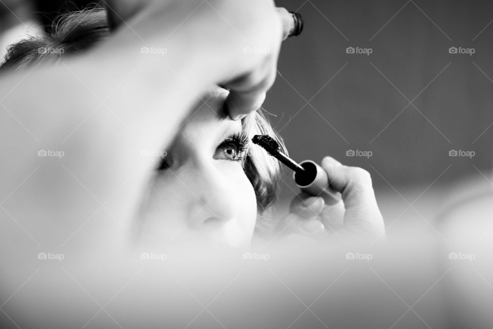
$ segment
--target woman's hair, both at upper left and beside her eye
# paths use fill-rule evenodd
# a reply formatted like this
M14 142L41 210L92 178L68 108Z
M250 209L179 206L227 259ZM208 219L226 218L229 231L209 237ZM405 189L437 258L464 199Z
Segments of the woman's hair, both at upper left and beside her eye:
M0 74L7 70L22 70L38 63L56 62L80 54L103 42L109 34L108 17L104 8L95 7L64 14L55 21L50 32L9 46L5 62L0 66ZM250 138L254 135L274 137L286 153L282 140L272 129L262 109L245 117L242 125L243 131ZM258 145L251 144L245 159L244 172L255 190L259 219L265 221L262 214L276 201L279 162Z

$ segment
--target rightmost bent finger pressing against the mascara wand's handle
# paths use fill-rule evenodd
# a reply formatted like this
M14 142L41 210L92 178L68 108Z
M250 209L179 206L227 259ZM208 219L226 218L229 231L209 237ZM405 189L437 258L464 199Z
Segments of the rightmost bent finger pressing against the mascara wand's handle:
M383 218L376 203L370 174L361 168L343 166L326 157L321 166L327 171L330 185L342 193L344 228L359 233L382 234Z

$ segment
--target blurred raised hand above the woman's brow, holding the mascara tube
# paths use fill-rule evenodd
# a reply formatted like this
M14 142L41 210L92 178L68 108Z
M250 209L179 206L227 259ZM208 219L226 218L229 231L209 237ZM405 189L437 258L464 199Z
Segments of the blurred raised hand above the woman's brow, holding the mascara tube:
M141 31L136 27L138 21L149 25L150 20L159 18L157 27L175 24L178 33L187 31L183 44L196 44L189 51L198 52L203 65L210 67L215 84L230 89L225 108L233 119L256 111L265 100L277 75L280 45L290 28L287 22L292 20L292 15L285 8L276 8L272 0L208 0L206 3L108 0L107 3L112 25L124 27L123 22L130 22L142 39L152 29ZM186 16L183 22L178 19L182 16ZM166 35L159 35L160 40L166 41L168 34L166 31Z

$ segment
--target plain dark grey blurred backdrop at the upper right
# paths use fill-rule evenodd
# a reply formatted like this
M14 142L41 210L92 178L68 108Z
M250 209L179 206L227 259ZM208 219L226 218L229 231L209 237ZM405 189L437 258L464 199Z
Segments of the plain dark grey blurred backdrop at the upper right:
M437 178L440 186L491 169L492 2L276 5L305 20L304 32L282 45L279 76L264 104L293 158L331 155L363 167L377 196L388 189L419 194ZM347 54L349 46L373 53ZM449 54L452 46L476 53ZM347 157L347 150L373 156ZM449 157L449 150L476 155ZM290 175L282 197L297 191Z

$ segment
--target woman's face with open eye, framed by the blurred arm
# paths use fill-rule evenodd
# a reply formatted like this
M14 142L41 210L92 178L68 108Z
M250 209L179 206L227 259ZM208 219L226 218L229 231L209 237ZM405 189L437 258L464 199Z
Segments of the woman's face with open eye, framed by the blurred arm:
M250 247L257 204L242 166L249 138L223 112L226 96L221 88L206 95L165 150L140 216L146 241Z

